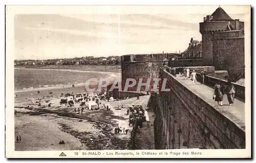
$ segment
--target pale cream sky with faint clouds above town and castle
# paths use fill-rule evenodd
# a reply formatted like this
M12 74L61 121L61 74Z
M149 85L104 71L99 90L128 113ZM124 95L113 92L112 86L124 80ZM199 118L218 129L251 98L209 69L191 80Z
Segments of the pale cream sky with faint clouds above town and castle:
M165 8L163 13L119 10L119 13L16 14L15 59L182 52L188 47L191 37L201 41L199 23L217 7L201 7L200 13L198 8L193 7L168 12L172 11L170 7L169 10ZM231 18L243 21L243 10L234 10L230 6L222 8Z

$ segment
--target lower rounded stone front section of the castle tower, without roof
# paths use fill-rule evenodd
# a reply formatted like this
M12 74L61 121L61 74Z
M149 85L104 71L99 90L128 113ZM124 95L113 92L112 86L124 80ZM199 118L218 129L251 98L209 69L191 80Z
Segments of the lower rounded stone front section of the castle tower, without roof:
M244 73L244 37L241 31L216 33L212 44L216 70L228 70L234 78Z

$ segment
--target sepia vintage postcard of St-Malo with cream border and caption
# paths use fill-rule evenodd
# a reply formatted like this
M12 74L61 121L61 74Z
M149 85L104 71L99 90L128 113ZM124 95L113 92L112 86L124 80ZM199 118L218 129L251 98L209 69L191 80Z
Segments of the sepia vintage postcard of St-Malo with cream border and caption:
M250 158L251 6L6 6L7 158Z

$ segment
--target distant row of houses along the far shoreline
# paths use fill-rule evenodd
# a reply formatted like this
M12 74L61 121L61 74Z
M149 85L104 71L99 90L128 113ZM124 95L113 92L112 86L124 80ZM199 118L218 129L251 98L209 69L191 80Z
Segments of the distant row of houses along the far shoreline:
M121 64L119 57L95 58L88 60L87 58L75 59L53 59L53 60L15 60L14 65L119 65Z

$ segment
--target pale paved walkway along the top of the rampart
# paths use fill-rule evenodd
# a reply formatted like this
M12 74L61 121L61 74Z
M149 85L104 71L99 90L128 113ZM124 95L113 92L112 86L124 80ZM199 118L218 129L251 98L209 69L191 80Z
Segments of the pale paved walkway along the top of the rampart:
M244 102L238 99L234 99L234 104L232 106L229 106L227 95L224 95L223 106L219 106L218 103L212 99L212 96L214 95L214 89L205 85L201 85L201 83L199 82L193 85L190 79L184 79L184 77L177 77L177 79L182 84L185 84L187 88L192 90L195 94L200 94L201 96L206 97L207 99L209 99L209 101L211 100L212 103L215 104L215 106L222 107L225 110L225 112L229 112L230 115L236 117L237 119L242 121L242 123L245 124L245 103Z

